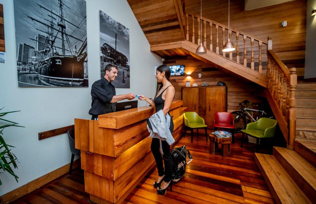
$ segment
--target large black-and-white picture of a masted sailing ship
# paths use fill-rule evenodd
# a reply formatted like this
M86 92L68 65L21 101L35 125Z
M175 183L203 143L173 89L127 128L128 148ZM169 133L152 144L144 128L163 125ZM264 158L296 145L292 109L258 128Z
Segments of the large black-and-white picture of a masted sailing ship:
M88 87L85 0L13 0L19 87Z

